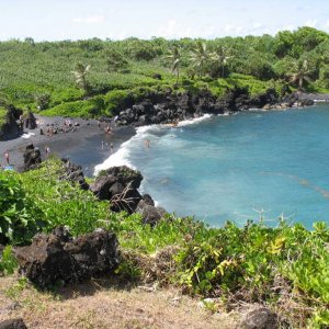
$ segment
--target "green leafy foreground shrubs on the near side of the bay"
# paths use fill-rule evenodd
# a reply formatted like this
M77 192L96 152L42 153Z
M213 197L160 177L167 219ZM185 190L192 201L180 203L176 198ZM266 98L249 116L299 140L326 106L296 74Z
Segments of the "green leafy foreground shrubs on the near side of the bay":
M325 223L313 230L287 226L282 218L276 228L262 222L209 228L194 218L167 215L151 227L137 214L110 212L107 202L60 180L63 174L58 160L21 174L1 173L0 195L7 196L0 217L10 219L5 237L11 243L27 242L36 230L50 231L57 225L68 225L73 235L103 227L118 237L123 259L116 274L122 280L174 284L185 293L219 297L227 307L239 300L263 303L294 328L329 325ZM9 231L1 229L2 235ZM0 272L10 274L15 266L7 247Z

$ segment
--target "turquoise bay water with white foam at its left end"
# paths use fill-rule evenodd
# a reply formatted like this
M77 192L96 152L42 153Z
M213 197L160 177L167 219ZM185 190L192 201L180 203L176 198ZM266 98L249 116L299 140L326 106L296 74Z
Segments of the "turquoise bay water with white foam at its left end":
M144 127L103 166L134 166L159 205L213 226L261 212L269 225L283 214L311 227L329 223L328 128L328 105Z

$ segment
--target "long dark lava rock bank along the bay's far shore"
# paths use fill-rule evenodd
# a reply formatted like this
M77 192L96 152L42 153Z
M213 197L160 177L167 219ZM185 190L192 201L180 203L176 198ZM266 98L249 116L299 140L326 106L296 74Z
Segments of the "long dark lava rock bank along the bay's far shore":
M201 117L204 114L225 114L250 109L290 109L309 106L313 98L294 92L280 97L274 89L258 95L250 95L247 89L235 88L225 95L216 98L208 90L197 93L150 93L141 102L128 109L115 111L117 125L144 126L152 124L177 124L180 121Z

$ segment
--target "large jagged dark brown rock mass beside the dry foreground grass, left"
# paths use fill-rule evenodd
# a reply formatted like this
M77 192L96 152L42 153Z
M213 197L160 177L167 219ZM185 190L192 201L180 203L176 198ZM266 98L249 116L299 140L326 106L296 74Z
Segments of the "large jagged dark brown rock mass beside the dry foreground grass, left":
M107 275L118 264L113 232L95 230L72 238L59 227L50 235L36 235L32 245L15 249L20 272L42 288Z

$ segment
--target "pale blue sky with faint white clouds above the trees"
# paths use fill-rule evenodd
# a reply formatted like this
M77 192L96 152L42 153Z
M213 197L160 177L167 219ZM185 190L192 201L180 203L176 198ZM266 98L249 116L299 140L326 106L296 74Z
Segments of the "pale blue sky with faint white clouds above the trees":
M329 0L0 0L0 41L329 33Z

